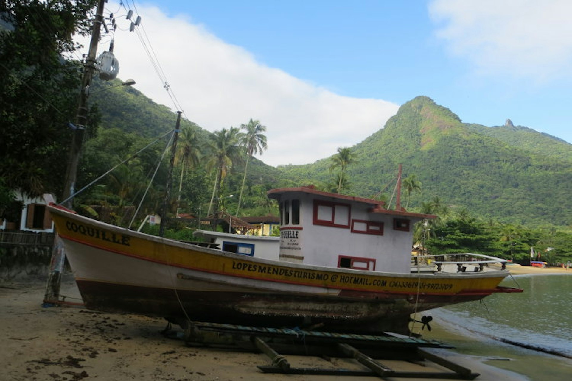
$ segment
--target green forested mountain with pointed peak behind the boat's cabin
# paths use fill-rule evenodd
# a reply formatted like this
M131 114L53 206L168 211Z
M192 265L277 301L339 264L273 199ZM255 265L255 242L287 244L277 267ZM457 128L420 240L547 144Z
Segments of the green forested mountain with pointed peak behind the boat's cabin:
M410 210L439 196L453 209L485 218L572 223L572 146L550 135L511 123L469 125L430 98L417 97L352 149L359 160L348 169L352 194L378 194L402 163L403 177L415 174L422 182ZM299 182L327 182L330 163L327 158L280 169Z

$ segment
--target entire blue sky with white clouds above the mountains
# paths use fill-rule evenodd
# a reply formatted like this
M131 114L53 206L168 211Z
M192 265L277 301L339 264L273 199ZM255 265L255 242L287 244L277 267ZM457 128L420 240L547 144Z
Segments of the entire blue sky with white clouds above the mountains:
M128 9L141 16L132 32ZM466 123L511 119L572 142L569 0L128 0L110 12L118 78L209 131L259 120L268 165L362 142L419 95Z

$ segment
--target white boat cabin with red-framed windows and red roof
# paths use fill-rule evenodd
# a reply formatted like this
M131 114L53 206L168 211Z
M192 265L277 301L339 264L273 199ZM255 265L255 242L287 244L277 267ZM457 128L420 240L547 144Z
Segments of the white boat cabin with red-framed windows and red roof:
M408 273L413 226L435 218L313 186L273 189L268 196L280 205L280 260L316 266Z

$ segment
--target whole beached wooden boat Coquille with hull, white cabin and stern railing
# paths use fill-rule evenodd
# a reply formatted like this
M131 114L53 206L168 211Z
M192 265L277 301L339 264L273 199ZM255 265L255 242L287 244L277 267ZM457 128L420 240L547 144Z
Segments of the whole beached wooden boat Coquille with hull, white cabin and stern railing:
M312 187L269 191L280 203L279 260L215 250L112 226L51 204L87 308L189 321L405 331L410 314L494 292L498 258L434 261L411 271L413 224L431 215ZM255 251L256 252L256 251ZM491 259L492 258L492 259ZM427 270L427 268L425 269Z

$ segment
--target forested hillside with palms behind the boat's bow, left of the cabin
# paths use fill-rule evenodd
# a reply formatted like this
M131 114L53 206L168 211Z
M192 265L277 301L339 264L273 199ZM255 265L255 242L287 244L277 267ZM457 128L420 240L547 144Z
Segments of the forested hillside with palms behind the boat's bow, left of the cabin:
M77 202L134 206L154 177L153 186L146 191L143 207L144 212L157 212L170 156L166 143L169 132L176 125L177 114L121 83L120 80L95 81L90 89L90 105L97 117L93 118L89 138L84 143L78 184L84 186L94 181L161 136L164 138L91 186L78 196ZM241 132L244 131L242 127L225 126L210 133L186 118L181 119L170 211L203 216L219 208L233 213L240 211L240 215L275 212L266 192L289 183L279 170L255 158L249 158L244 178L247 162L244 138L247 134ZM154 173L159 161L163 165ZM119 220L113 222L125 223L121 217L117 218Z

